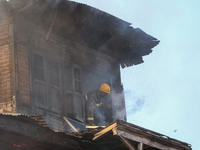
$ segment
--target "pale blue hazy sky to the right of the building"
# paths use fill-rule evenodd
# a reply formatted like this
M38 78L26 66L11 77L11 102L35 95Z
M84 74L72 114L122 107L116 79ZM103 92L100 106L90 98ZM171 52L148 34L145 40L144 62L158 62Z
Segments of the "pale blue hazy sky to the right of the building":
M200 147L200 1L76 0L160 40L122 69L128 122ZM174 132L174 130L177 130Z

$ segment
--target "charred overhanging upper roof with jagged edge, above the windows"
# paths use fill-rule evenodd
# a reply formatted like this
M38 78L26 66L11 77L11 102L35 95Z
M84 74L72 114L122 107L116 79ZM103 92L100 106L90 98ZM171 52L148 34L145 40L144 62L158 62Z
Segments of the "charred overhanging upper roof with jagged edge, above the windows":
M122 68L143 63L159 41L131 23L68 0L10 0L10 16L105 53ZM50 33L49 32L49 33Z

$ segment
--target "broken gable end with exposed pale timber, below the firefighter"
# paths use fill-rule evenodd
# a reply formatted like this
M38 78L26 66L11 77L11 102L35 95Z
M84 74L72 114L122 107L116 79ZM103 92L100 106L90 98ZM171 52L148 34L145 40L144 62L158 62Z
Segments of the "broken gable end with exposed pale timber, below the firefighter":
M191 147L186 145L187 143L171 139L162 134L120 120L96 133L93 140L98 140L99 138L108 135L108 132L112 132L113 135L119 137L129 149L133 149L131 146L132 144L130 143L130 141L133 141L138 143L137 150L143 150L145 146L162 150L180 150L182 148L191 150Z

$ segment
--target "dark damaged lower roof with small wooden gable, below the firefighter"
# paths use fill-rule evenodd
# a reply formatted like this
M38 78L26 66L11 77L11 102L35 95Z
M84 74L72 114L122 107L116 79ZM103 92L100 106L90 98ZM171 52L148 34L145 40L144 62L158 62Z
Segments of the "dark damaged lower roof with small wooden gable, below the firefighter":
M104 128L65 133L46 126L40 116L0 114L3 149L191 150L191 145L117 120Z

